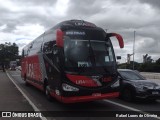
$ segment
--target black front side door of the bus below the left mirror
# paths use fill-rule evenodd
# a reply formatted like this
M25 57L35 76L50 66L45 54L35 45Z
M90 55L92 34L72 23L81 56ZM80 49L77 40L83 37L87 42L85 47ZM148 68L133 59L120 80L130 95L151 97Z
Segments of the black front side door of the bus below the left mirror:
M43 57L46 67L47 79L50 88L56 89L60 85L61 72L59 67L59 50L54 45L54 41L49 41L43 45Z

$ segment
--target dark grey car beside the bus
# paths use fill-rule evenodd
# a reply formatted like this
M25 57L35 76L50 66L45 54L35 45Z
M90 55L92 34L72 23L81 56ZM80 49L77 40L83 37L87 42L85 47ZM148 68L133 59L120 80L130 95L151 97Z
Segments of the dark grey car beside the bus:
M148 80L139 72L118 69L120 79L120 97L126 101L136 99L156 100L160 98L160 85Z

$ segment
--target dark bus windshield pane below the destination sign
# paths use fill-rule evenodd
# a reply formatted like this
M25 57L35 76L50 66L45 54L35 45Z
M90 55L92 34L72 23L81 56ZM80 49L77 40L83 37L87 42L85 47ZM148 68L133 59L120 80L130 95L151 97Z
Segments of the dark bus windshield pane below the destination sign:
M66 67L100 67L113 64L113 50L106 41L65 40Z

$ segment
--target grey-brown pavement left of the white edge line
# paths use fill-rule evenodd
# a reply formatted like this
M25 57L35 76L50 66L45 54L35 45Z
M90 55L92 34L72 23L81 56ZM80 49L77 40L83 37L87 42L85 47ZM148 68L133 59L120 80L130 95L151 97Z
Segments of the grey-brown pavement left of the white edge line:
M0 71L0 111L33 111L28 101L2 71Z

